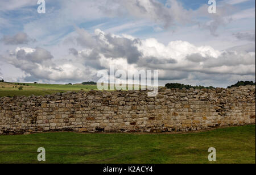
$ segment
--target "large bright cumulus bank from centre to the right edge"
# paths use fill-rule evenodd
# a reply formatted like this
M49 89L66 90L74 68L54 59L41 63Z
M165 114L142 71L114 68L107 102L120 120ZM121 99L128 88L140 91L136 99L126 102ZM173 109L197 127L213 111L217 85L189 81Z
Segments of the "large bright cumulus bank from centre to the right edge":
M141 40L128 35L105 34L100 30L94 34L85 32L85 36L78 37L77 43L85 47L78 56L96 69L108 69L110 64L126 71L159 69L160 80L196 78L199 74L210 75L203 76L208 78L224 74L230 77L255 74L255 50L245 46L218 51L207 45L196 47L187 41L171 41L164 45L154 38ZM86 44L87 38L89 44ZM123 51L134 55L132 61Z

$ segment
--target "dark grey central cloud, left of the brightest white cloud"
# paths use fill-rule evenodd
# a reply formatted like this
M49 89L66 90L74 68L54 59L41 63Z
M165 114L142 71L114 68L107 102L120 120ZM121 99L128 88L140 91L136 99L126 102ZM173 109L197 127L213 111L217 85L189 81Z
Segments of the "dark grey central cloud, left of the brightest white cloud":
M125 58L129 64L135 64L142 57L136 46L140 43L139 39L117 37L102 31L97 31L97 35L90 35L82 29L77 31L79 34L76 38L77 44L92 49L90 54L83 55L87 62L88 60L97 62L100 54L112 59Z

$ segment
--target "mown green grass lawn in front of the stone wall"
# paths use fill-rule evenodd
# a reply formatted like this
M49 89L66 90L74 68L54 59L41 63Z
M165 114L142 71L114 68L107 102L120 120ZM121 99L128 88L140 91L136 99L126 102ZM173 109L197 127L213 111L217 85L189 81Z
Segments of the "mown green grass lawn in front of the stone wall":
M255 164L255 125L190 134L78 134L75 132L0 136L0 163L216 163ZM42 163L42 162L41 162Z

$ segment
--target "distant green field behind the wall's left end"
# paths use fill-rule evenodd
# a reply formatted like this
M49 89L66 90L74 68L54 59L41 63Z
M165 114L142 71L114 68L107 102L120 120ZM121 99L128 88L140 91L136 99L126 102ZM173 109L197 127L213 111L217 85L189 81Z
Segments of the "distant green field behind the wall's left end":
M15 87L16 86L16 87ZM23 86L23 90L19 90L19 86ZM48 95L64 91L97 89L96 85L51 85L51 84L25 84L0 82L0 97L13 97L14 95Z

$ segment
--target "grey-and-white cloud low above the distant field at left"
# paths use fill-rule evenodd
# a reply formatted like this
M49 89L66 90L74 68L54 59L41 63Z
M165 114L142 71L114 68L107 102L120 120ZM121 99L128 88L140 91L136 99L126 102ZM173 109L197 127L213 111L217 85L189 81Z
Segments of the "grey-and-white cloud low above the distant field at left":
M50 52L43 48L16 48L2 59L24 71L26 81L77 81L84 80L91 72L79 62L61 60L56 64Z

